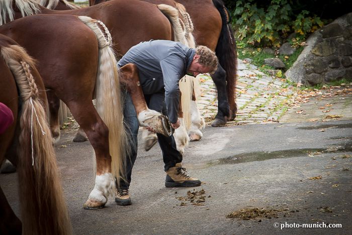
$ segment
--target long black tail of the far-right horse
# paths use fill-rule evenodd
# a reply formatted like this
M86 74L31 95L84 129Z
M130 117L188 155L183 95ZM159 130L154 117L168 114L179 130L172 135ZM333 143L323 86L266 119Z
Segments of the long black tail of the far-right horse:
M235 103L235 86L237 79L237 51L236 41L233 36L230 20L227 20L227 9L224 7L222 0L213 0L213 4L219 11L222 19L222 28L218 44L216 45L215 53L219 59L220 65L226 71L226 92L227 99L230 105L231 119L235 117L237 111Z

